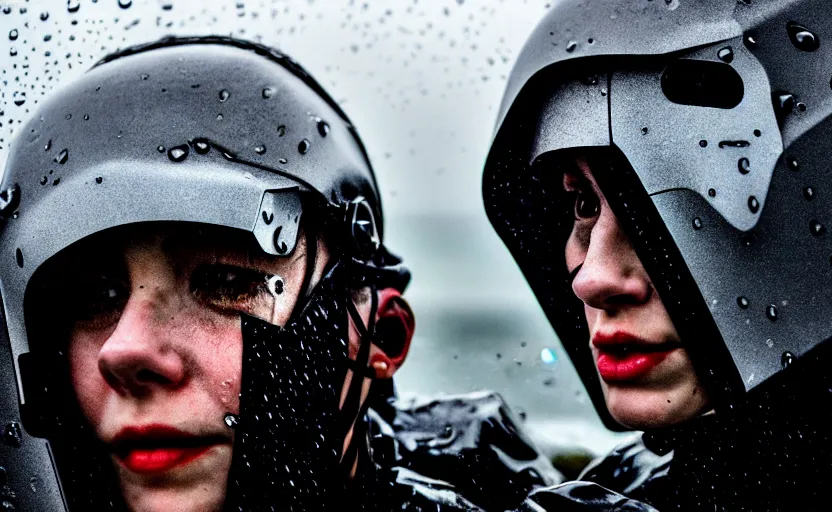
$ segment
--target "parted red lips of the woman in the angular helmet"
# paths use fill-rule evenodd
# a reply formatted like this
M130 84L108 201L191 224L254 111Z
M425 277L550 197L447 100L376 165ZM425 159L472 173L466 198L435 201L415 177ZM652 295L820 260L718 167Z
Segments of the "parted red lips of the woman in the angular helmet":
M640 379L681 348L678 343L647 341L626 332L596 333L592 344L598 349L598 373L606 382Z

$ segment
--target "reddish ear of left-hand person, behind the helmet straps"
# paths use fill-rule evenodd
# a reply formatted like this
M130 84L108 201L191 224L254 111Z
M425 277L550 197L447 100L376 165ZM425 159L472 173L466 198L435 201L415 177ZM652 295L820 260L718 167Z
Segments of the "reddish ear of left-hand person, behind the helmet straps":
M410 305L395 288L378 291L378 312L370 366L376 378L389 379L410 350L415 321Z

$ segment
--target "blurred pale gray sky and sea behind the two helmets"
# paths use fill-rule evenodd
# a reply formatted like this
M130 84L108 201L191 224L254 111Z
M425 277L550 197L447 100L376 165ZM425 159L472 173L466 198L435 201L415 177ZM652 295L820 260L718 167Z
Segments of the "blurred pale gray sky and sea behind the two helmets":
M480 178L506 76L546 0L0 1L0 169L50 91L164 35L253 39L298 60L357 125L386 244L413 271L404 394L499 391L549 453L601 453L598 420L514 261ZM5 264L5 263L4 263Z

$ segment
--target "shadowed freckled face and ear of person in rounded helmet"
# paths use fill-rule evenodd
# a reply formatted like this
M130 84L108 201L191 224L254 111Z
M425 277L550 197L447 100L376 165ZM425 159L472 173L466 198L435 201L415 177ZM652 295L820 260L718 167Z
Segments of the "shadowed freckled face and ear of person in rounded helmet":
M221 509L233 444L224 417L239 413L240 314L285 325L303 285L304 240L277 258L250 234L154 225L120 228L62 256L72 385L131 510ZM319 242L313 282L327 258ZM406 317L412 333L398 292L380 296L379 317ZM358 309L366 322L369 301ZM353 326L352 354L359 340ZM389 358L373 346L376 377L391 377L406 352Z

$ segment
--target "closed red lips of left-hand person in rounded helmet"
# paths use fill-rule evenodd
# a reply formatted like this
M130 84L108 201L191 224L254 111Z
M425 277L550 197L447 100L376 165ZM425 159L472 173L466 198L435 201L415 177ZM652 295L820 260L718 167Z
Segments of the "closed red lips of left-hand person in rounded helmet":
M167 425L147 425L122 429L113 439L112 448L124 467L149 474L188 464L227 442L222 436L196 436Z

